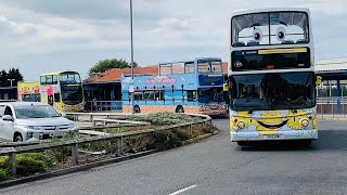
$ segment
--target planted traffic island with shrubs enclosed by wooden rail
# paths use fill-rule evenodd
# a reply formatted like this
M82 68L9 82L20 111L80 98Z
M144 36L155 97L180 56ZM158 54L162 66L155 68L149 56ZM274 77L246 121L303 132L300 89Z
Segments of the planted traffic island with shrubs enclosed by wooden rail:
M131 118L151 126L97 128L101 136L15 143L0 152L0 187L82 171L198 142L218 133L204 115L159 113Z

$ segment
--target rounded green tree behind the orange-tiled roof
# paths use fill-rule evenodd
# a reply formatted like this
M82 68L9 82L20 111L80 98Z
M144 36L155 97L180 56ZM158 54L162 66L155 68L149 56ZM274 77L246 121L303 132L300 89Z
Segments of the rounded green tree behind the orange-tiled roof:
M95 74L95 73L105 73L108 69L112 68L130 68L131 64L126 62L125 60L120 58L106 58L103 61L99 61L93 67L89 69L89 75ZM133 67L138 67L138 64L133 64Z

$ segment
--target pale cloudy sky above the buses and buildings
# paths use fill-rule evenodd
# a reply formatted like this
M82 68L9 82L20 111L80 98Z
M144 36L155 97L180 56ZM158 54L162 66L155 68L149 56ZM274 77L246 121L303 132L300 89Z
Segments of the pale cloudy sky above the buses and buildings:
M0 69L26 81L56 70L82 79L105 58L130 62L129 0L0 0ZM134 62L216 56L228 61L232 11L309 8L316 61L346 57L346 0L132 0Z

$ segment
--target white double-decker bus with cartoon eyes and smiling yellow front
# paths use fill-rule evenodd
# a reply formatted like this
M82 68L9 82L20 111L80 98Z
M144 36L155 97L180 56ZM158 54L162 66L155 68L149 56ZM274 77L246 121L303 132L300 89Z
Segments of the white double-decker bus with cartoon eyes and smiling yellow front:
M318 139L313 36L308 9L261 9L232 14L231 141Z

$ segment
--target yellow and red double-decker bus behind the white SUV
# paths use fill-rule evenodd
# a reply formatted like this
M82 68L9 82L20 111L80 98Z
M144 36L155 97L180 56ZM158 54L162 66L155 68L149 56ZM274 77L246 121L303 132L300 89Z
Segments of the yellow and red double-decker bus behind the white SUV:
M77 72L40 75L39 82L18 82L18 101L43 102L57 112L82 112L83 89Z

